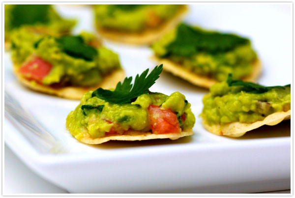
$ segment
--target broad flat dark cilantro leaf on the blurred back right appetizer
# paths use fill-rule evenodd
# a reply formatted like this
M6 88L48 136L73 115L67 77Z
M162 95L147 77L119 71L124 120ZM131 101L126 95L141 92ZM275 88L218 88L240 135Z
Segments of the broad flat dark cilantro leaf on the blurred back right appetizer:
M199 52L216 54L250 42L235 34L205 31L183 23L177 27L176 34L175 40L166 46L167 52L164 57L171 55L189 57Z

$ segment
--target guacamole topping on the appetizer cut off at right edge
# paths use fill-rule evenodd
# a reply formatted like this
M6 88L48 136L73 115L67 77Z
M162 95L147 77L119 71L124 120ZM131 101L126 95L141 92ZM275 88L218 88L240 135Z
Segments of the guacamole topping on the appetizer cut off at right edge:
M291 109L291 87L288 85L264 87L241 82L231 85L228 82L212 85L210 93L203 98L201 116L209 125L236 121L253 123L271 113Z

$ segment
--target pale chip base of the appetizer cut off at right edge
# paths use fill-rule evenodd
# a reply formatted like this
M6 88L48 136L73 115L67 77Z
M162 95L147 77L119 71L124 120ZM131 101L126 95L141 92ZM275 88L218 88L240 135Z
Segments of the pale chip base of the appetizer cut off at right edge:
M246 132L257 129L263 125L273 126L286 119L291 119L291 110L288 112L271 113L266 116L264 120L253 123L232 122L225 125L214 124L210 126L205 119L202 120L202 123L209 132L215 135L238 138L243 136Z

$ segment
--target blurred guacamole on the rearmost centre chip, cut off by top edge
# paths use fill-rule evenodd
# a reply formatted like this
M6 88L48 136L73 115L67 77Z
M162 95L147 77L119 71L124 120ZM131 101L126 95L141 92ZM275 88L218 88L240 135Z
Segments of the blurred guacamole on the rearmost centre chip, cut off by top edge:
M140 32L157 28L177 14L183 5L96 5L95 23L99 28Z

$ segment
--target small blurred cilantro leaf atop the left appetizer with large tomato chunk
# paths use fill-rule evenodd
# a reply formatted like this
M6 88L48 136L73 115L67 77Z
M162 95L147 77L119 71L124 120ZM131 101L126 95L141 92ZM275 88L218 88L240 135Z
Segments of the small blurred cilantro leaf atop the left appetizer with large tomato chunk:
M62 36L56 39L61 49L71 57L93 60L97 50L87 45L81 36Z

